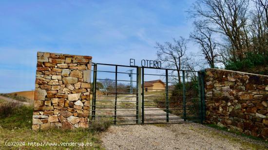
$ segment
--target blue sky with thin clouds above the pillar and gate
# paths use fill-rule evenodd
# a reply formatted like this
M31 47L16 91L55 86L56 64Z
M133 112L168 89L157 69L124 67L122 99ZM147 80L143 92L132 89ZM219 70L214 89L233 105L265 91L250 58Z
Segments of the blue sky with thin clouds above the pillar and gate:
M37 51L140 66L156 42L189 38L193 0L0 0L0 93L33 90ZM188 44L197 52L198 46Z

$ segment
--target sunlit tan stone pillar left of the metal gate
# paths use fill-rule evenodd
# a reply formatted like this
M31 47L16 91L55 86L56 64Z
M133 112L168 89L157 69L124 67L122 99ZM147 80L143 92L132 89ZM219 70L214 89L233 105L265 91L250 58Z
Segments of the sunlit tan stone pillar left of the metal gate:
M91 60L37 53L33 130L88 128Z

